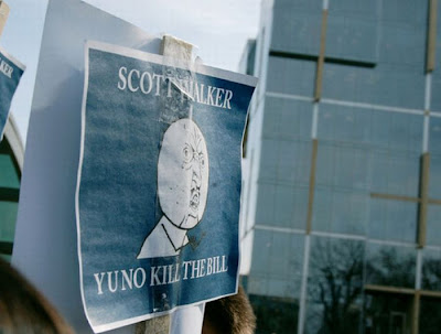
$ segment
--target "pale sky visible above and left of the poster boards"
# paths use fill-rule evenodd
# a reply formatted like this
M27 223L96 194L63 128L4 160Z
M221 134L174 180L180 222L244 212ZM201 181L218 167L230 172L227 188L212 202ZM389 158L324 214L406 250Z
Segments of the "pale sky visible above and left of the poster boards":
M53 0L56 1L56 0ZM78 0L79 1L79 0ZM47 0L6 0L10 14L0 45L26 65L11 112L25 141ZM258 32L260 0L86 0L150 35L171 34L197 46L206 65L237 71ZM79 112L79 111L78 111Z

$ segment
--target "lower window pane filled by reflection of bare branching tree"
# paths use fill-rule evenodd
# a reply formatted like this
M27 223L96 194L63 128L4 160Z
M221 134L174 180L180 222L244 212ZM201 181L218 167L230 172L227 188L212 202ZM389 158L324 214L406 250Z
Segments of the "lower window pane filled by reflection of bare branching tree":
M363 308L364 243L312 237L306 333L354 333Z

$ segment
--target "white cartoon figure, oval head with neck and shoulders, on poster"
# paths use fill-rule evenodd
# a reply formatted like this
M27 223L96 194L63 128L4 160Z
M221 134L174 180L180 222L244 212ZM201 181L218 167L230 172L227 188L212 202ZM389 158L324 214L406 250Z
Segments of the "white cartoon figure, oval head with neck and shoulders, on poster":
M137 258L169 257L189 244L187 230L202 219L208 193L208 152L197 125L187 118L164 132L158 158L158 197L163 216Z

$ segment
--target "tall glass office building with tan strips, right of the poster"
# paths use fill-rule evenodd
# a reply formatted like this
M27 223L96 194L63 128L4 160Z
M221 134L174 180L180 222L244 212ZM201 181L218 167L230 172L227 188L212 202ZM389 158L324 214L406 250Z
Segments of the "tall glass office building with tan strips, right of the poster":
M257 333L440 333L440 13L262 2L243 58L260 79L241 211Z

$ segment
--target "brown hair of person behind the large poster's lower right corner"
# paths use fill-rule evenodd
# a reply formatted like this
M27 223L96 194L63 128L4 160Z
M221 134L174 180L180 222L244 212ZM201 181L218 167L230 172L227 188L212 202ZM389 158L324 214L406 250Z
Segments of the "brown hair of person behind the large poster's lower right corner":
M205 305L202 334L252 334L256 316L244 289Z

